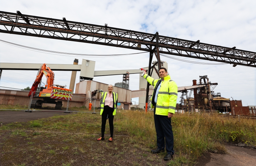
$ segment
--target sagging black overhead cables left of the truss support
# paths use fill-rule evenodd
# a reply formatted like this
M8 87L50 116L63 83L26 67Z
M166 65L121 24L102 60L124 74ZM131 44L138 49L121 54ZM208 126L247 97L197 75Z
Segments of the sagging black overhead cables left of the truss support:
M27 49L30 51L35 51L35 52L40 52L40 53L47 53L47 54L52 54L52 55L60 55L60 56L68 56L68 57L84 57L84 56L89 56L89 57L118 57L118 56L126 56L126 55L134 55L134 54L139 54L139 53L127 53L127 54L80 54L80 53L65 53L65 52L58 52L58 51L50 51L50 50L45 50L45 49L38 49L38 48L33 48L33 47L28 47L25 45L19 45L15 43L11 43L8 41L0 40L0 42L12 45L15 47L19 47L22 49ZM42 52L43 51L43 52ZM59 54L56 54L59 53ZM147 52L142 52L142 53L147 53ZM79 55L79 56L71 56L71 55Z

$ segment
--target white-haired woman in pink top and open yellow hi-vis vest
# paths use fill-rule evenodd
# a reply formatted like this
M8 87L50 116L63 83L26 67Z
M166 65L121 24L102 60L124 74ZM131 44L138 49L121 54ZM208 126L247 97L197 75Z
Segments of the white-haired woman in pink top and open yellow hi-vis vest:
M114 132L114 115L116 115L116 106L117 106L117 93L112 92L114 89L113 85L108 85L108 92L103 92L101 94L101 137L97 140L105 140L105 125L107 119L109 119L109 129L110 129L110 138L109 142L113 140Z

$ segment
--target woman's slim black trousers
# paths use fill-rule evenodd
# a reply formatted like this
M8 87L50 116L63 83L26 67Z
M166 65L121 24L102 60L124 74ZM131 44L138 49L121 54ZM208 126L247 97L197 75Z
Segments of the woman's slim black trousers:
M114 132L114 115L113 115L113 108L105 105L104 106L104 110L102 113L102 120L101 120L101 137L104 137L104 133L105 133L105 125L106 125L106 121L107 121L107 116L109 116L109 129L110 129L110 137L113 138L113 132Z

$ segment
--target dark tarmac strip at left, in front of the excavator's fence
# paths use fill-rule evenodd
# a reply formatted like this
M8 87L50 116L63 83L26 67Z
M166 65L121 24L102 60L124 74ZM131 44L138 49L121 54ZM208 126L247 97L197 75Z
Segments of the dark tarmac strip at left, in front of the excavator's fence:
M69 113L63 112L46 112L46 111L0 111L0 122L3 124L12 122L27 122L41 118L52 117L54 115L68 115Z

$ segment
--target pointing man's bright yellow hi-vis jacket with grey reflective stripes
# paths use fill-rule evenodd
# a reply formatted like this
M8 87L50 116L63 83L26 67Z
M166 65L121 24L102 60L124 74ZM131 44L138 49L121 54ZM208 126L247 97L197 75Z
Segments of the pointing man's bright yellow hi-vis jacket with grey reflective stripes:
M144 78L154 86L161 78L155 80L154 78L150 77L149 75L145 74ZM154 94L153 91L153 94ZM175 113L176 101L178 96L178 87L177 84L171 80L170 76L164 77L164 81L161 83L161 87L159 89L159 93L157 95L157 102L156 102L156 115L168 115L168 113ZM152 97L151 97L152 100ZM153 99L154 100L154 99ZM154 108L154 105L151 104L151 108Z

